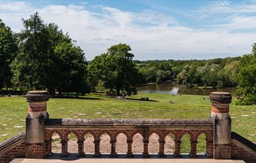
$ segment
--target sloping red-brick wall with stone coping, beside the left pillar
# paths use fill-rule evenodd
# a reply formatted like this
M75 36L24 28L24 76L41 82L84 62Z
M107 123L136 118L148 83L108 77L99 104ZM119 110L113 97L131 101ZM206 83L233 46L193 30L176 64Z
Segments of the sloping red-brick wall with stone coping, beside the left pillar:
M10 162L14 158L25 157L25 132L0 144L0 162Z

